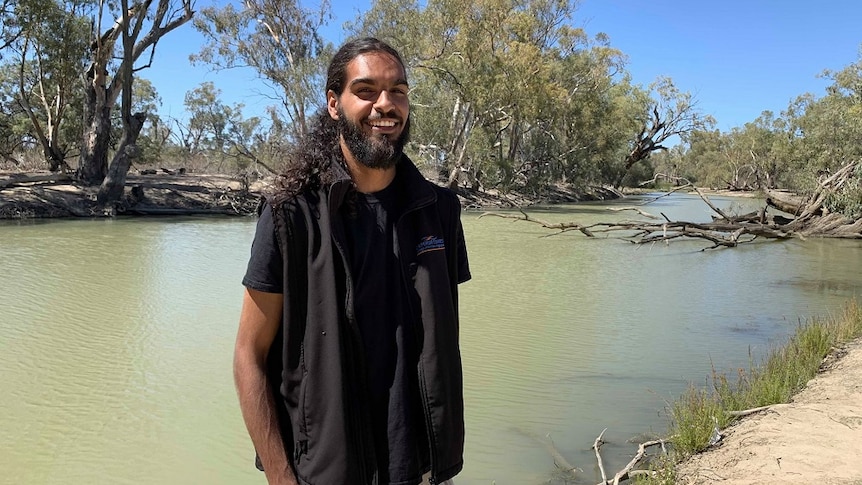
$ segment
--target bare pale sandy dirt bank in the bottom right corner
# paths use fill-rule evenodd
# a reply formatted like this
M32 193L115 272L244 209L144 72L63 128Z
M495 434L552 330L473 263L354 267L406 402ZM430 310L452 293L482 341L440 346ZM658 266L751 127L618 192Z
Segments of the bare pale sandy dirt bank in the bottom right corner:
M790 404L725 430L679 468L677 483L862 485L862 340L839 356Z

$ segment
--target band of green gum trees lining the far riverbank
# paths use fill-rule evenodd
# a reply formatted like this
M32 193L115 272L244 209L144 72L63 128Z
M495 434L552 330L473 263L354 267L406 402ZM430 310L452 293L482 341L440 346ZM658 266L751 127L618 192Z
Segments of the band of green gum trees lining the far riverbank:
M0 170L63 172L107 214L120 212L127 174L278 171L323 104L331 5L193 3L0 0ZM407 149L453 188L541 198L548 187L585 193L662 173L698 187L809 194L862 159L862 57L825 71L822 96L800 94L781 113L722 132L672 79L632 82L626 54L581 28L577 7L373 0L345 36L400 49L416 115ZM213 81L186 93L184 113L161 112L147 69L157 45L172 48L173 33L192 27L204 38L193 62L254 70L271 88L256 104L268 106L248 116ZM858 218L860 200L857 175L824 207Z

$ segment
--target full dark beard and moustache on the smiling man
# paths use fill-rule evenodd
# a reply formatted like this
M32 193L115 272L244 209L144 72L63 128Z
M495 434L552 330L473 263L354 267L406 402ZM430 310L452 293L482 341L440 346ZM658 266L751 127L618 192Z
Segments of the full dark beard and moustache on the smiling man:
M374 169L394 167L404 152L404 145L410 139L410 117L404 121L404 129L398 138L390 140L386 136L367 135L362 127L347 119L344 111L338 110L338 132L353 157L363 166Z

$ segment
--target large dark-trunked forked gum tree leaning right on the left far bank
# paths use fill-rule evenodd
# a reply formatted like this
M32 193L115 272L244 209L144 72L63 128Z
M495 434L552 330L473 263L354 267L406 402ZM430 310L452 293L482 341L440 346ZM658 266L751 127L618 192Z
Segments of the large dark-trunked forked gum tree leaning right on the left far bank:
M135 73L150 67L162 37L189 22L193 15L192 0L143 0L131 6L127 0L98 3L89 66L83 72L84 138L79 175L85 183L101 184L102 202L122 194L131 160L138 155L137 138L147 114L132 113ZM142 60L147 53L149 56ZM121 93L123 136L109 165L111 117Z

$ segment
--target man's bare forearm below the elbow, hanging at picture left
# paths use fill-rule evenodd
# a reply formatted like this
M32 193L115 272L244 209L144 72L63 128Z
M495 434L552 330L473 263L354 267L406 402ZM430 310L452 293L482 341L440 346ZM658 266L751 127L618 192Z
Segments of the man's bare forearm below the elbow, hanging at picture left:
M253 358L237 355L234 361L239 404L248 434L263 463L270 484L297 483L281 437L275 413L275 398L270 391L266 373Z

